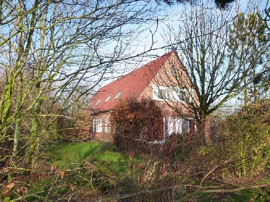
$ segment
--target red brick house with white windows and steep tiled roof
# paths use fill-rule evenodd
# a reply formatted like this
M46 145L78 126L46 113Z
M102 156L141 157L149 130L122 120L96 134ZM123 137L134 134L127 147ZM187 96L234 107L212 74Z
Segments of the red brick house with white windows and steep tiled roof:
M185 118L183 118L179 117L179 114L172 110L165 102L166 98L172 98L174 95L173 88L165 85L166 77L168 74L173 77L175 68L180 67L180 65L177 53L171 51L101 87L89 102L92 109L91 138L113 141L113 137L109 133L110 111L119 103L120 99L128 97L136 99L144 97L155 100L156 104L163 111L164 139L173 132L194 131L196 125L191 118L192 116L184 107L185 103L179 100L183 106L182 113L185 115ZM157 142L163 140L157 140Z

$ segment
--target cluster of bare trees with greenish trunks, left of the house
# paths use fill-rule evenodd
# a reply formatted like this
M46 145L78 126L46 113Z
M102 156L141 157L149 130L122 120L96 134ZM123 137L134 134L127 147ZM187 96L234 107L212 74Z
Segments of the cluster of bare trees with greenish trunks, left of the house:
M151 1L137 0L2 1L2 144L13 140L16 156L24 139L25 157L31 157L44 135L43 118L70 108L74 93L79 92L76 99L80 100L117 68L116 62L128 60L131 39L145 29L146 22L156 22L155 11ZM50 108L44 114L44 102L51 108L62 107L56 114L50 114ZM21 133L22 119L30 122L28 134Z

